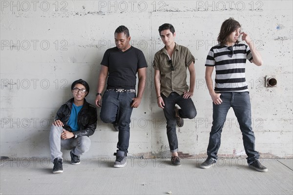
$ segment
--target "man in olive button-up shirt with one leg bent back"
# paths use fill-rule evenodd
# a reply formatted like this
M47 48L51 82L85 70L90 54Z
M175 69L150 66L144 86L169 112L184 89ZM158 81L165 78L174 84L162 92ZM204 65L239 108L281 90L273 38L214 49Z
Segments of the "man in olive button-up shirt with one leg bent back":
M165 47L155 54L153 64L157 103L163 108L167 120L167 137L172 153L171 164L180 166L176 123L182 127L183 118L192 119L196 116L196 109L191 100L195 86L194 57L187 47L175 43L176 33L171 24L161 25L159 33ZM189 91L186 82L187 68L190 74Z

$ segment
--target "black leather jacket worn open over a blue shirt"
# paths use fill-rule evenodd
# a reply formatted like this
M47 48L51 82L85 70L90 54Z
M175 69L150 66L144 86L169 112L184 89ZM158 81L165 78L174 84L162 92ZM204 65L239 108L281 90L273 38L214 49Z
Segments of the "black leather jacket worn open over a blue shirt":
M67 124L74 98L69 99L58 110L55 120L61 120L64 124L63 128L71 132L71 129ZM84 105L77 116L77 123L80 127L79 131L72 132L75 137L91 136L94 134L97 128L97 109L95 106L87 103L84 99Z

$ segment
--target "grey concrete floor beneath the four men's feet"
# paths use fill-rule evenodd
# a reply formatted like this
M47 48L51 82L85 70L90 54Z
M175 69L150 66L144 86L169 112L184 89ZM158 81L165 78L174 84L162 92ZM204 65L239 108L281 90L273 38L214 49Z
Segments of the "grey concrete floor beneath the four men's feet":
M243 158L220 158L215 166L200 169L205 159L128 158L124 168L114 168L114 158L63 164L62 174L52 174L48 158L1 161L1 195L293 195L293 159L261 159L269 171L248 167Z

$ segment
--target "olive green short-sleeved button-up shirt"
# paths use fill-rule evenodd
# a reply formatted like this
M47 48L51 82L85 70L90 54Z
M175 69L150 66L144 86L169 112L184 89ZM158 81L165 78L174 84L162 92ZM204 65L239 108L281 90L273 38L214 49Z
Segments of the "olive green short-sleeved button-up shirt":
M165 47L155 54L153 68L159 70L161 74L161 93L168 97L170 93L176 92L182 95L188 91L187 67L195 61L193 55L187 47L175 43L172 54L172 64L174 71L171 71L168 63L169 56Z

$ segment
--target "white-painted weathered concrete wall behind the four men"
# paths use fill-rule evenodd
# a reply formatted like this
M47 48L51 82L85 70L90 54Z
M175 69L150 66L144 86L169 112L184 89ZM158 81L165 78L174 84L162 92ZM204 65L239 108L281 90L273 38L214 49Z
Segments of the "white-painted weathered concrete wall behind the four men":
M119 25L130 30L131 44L148 62L147 87L132 113L129 156L169 156L166 120L158 108L152 61L163 47L158 27L172 23L176 42L196 58L192 100L198 115L177 128L180 155L206 156L212 102L204 74L205 59L216 44L222 22L238 20L262 54L264 65L247 62L256 150L262 157L292 157L293 3L284 1L10 1L1 0L1 156L50 156L49 126L60 105L72 97L71 83L83 78L93 103L100 62L114 46ZM266 87L273 75L276 87ZM98 109L99 113L100 109ZM118 133L99 120L84 158L112 156ZM220 156L244 156L232 109L223 129ZM65 154L68 156L68 152Z

